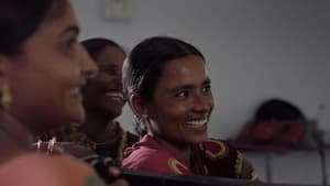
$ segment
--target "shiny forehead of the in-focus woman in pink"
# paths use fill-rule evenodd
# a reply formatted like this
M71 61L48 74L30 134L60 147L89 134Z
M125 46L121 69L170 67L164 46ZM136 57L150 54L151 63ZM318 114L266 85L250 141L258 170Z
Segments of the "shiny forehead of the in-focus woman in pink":
M208 75L204 59L190 55L168 62L158 79L158 84L165 84L169 88L182 84L202 84L206 78L208 78Z

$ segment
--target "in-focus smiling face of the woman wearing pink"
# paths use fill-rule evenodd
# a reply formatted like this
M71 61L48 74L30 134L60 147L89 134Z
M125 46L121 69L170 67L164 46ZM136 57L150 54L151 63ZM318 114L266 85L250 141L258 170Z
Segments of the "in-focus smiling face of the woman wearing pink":
M168 62L145 109L153 135L184 145L207 140L213 97L202 58L189 55Z

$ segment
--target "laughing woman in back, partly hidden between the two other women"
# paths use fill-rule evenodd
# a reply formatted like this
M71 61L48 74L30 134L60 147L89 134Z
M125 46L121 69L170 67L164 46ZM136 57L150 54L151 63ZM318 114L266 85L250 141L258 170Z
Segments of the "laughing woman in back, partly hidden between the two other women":
M121 81L125 52L107 39L89 39L81 43L99 67L97 76L88 79L84 86L86 121L65 127L51 135L58 141L91 147L101 156L111 156L113 163L120 166L124 147L139 140L116 121L125 103Z

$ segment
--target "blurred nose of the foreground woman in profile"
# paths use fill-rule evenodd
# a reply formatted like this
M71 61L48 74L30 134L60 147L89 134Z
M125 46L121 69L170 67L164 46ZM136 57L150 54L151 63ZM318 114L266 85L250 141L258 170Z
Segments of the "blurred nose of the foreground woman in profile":
M98 66L97 64L94 62L94 59L89 56L89 54L87 53L87 51L79 45L80 47L80 66L81 66L81 73L86 78L91 78L95 77L97 75Z

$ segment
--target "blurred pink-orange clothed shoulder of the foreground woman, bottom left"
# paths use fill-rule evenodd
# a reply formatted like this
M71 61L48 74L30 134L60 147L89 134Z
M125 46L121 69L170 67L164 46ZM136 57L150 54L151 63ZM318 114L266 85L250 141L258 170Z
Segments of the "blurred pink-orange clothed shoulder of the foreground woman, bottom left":
M25 154L7 162L1 166L0 177L0 185L12 186L80 186L90 180L102 185L87 164L65 156L41 154Z

